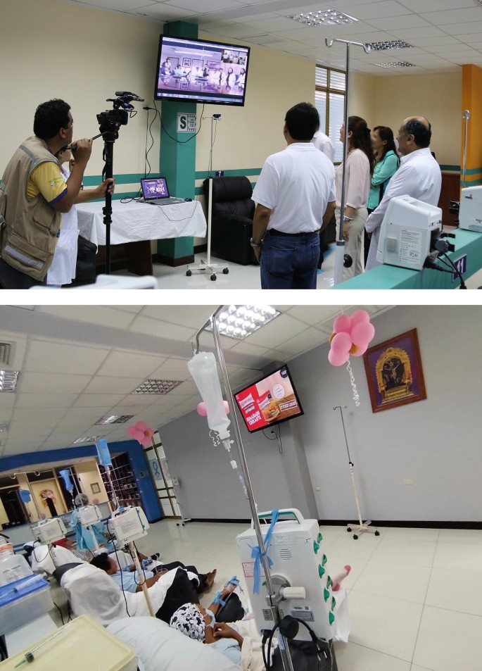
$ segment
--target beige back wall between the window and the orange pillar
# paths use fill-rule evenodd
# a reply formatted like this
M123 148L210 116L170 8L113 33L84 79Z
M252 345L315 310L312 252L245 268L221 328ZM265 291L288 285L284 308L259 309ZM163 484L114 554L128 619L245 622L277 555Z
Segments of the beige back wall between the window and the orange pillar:
M393 77L357 73L351 90L350 113L365 118L370 127L389 126L396 134L407 116L428 118L433 132L431 149L438 163L460 165L462 69L460 73Z

